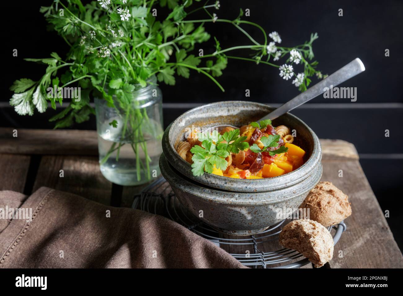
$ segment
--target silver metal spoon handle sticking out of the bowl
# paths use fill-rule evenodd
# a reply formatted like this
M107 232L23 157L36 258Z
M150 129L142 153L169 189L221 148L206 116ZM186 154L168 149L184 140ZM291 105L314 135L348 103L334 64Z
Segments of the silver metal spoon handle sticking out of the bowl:
M347 65L345 65L343 68L340 68L336 72L334 72L332 75L327 77L326 79L323 79L319 83L316 83L316 85L310 87L303 93L300 93L297 95L295 98L289 100L287 103L281 105L278 107L276 110L273 112L270 112L266 116L262 118L264 119L270 119L273 120L277 118L278 116L281 116L294 108L297 108L298 106L302 105L303 103L306 103L307 101L313 99L314 97L317 97L318 95L321 95L324 93L324 88L328 87L330 89L330 85L332 87L339 85L340 83L343 83L344 81L350 79L351 77L354 77L355 75L364 72L365 67L364 64L361 62L359 58L356 58L355 60L349 62Z

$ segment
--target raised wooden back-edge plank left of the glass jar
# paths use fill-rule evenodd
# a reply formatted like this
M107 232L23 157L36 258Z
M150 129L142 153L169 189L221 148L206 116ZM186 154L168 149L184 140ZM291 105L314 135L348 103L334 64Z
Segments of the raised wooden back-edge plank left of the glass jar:
M98 155L98 137L94 130L17 130L0 128L0 153Z

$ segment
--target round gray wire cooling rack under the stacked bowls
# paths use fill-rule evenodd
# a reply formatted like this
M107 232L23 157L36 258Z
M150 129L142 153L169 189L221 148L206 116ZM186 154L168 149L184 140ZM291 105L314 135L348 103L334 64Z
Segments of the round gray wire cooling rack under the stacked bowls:
M214 230L197 219L175 197L168 182L163 177L146 186L135 196L134 209L165 216L195 232L226 250L245 266L254 268L298 268L310 264L301 253L283 248L278 243L281 228L288 222L283 220L267 230L251 236L230 236ZM334 244L346 230L344 221L328 227L333 233Z

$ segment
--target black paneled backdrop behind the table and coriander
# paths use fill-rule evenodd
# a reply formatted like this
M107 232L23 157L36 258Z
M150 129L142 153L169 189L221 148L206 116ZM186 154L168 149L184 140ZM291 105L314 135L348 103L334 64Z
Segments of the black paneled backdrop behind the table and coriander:
M44 58L53 51L63 56L68 50L55 32L46 31L46 21L39 7L50 2L18 1L18 7L16 2L3 3L6 19L3 19L4 77L1 87L5 95L0 99L0 126L52 128L53 124L47 120L60 111L48 109L44 114L18 116L13 108L8 107L12 95L8 87L15 79L35 80L44 72L43 66L25 62L23 58ZM196 5L202 3L204 1ZM313 48L315 59L319 61L318 68L323 73L331 74L356 57L364 62L366 71L341 85L357 87L356 102L318 97L292 113L304 120L320 138L354 143L382 210L391 212L387 221L402 249L403 1L222 0L220 4L220 10L211 12L226 19L235 19L239 8L249 8L250 17L244 16L243 19L260 24L266 33L278 31L283 46L301 44L310 38L310 33L317 32L319 39L314 41ZM338 16L339 8L343 9L343 17ZM158 15L163 14L164 10L159 9ZM206 18L203 13L193 17ZM242 27L254 39L263 42L260 30ZM212 37L218 38L222 48L250 44L249 39L230 24L207 23L206 29ZM213 43L211 38L196 49L203 48L204 54L212 53ZM15 48L18 57L12 56ZM385 49L390 50L389 57L385 57ZM245 57L248 54L247 51L230 53ZM295 68L296 71L302 69L297 65ZM298 94L291 81L278 76L278 69L253 62L229 60L218 81L224 87L224 93L208 78L195 72L191 72L190 79L177 77L174 87L160 85L164 95L165 126L184 111L203 103L251 100L278 106ZM316 81L314 78L313 83ZM245 89L250 90L250 97L245 97ZM95 118L73 128L95 129ZM384 137L385 129L390 130L390 137Z

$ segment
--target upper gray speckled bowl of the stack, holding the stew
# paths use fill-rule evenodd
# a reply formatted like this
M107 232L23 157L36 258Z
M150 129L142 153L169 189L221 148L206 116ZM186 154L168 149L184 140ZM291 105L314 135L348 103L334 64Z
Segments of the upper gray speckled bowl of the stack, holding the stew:
M306 151L305 163L297 170L288 174L265 179L234 179L214 174L193 176L190 164L176 152L180 141L184 141L186 128L192 125L208 128L220 124L242 126L251 121L258 120L268 114L274 108L261 103L247 101L224 101L193 108L179 116L164 132L162 138L162 150L166 159L181 174L201 184L218 189L238 192L264 192L286 188L302 182L312 170L319 166L322 159L322 150L318 137L299 118L287 113L273 121L274 126L284 124L297 131L294 144Z

